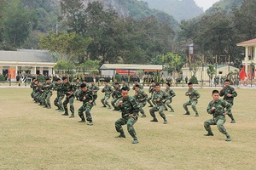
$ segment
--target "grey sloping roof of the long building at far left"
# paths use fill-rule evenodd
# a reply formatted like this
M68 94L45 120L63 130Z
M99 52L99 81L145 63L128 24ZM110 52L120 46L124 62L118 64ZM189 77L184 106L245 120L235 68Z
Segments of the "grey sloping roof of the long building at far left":
M1 61L55 63L52 54L42 50L0 51Z

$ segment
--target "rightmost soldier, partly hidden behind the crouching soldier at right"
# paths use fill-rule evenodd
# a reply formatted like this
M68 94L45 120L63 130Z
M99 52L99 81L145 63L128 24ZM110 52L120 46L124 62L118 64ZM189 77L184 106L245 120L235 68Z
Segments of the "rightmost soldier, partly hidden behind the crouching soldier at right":
M225 101L229 102L231 107L232 107L232 105L234 105L234 98L236 98L237 93L234 88L230 87L230 80L224 81L224 88L222 88L220 90L219 96L220 97L224 96L223 99ZM231 118L230 123L235 123L236 121L234 119L234 116L232 115L231 107L230 107L230 111L228 112L228 116L230 116L230 118Z

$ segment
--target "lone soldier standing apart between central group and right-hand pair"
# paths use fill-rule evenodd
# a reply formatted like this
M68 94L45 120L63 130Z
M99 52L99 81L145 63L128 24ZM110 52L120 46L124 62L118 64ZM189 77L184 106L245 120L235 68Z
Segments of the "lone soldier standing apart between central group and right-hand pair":
M189 101L183 104L183 108L186 111L183 115L190 115L188 105L192 106L193 111L195 111L195 116L199 116L197 110L196 110L196 104L198 102L198 99L200 98L200 94L193 88L192 82L188 83L189 89L186 92L186 96L189 96Z

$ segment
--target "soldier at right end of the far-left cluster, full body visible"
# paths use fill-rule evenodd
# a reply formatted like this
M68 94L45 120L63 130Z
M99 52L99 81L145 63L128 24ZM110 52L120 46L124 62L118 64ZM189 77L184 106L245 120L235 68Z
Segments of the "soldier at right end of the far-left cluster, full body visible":
M50 82L49 77L45 78L45 82L43 86L44 86L44 104L45 104L44 108L51 109L49 99L52 96L54 85L52 82Z

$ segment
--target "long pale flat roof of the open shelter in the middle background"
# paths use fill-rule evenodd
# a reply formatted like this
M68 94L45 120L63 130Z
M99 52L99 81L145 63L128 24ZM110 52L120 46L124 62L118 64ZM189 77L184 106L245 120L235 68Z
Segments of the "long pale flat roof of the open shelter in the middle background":
M162 65L126 65L126 64L103 64L100 70L148 70L162 71Z

